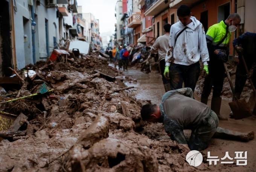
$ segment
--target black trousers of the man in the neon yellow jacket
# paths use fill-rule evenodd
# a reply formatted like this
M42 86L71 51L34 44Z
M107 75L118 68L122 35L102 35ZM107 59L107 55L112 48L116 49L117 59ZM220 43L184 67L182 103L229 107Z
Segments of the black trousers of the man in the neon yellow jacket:
M212 97L220 97L225 78L225 68L223 62L218 60L216 56L212 56L210 57L208 69L209 75L204 78L204 87L201 97L208 97L212 89Z

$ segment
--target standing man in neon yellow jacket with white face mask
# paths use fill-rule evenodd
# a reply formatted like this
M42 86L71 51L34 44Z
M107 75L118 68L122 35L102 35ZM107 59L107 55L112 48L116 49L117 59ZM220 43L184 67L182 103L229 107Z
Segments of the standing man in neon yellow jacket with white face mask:
M219 120L227 120L220 115L221 92L225 77L223 63L227 62L229 54L229 41L231 32L236 30L241 18L238 14L230 14L226 20L209 27L206 33L207 48L209 51L209 75L204 79L201 102L207 104L208 97L213 88L211 109L217 114Z

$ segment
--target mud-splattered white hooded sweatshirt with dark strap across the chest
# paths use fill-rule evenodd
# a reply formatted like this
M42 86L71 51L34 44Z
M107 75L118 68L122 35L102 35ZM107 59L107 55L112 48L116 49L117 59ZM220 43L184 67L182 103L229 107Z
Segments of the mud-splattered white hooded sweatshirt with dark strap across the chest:
M195 17L190 17L190 19L192 22L187 24L188 28L180 34L176 43L176 36L186 26L180 21L172 25L169 47L165 56L166 66L170 66L171 63L189 66L197 63L200 57L203 64L207 65L209 53L204 27Z

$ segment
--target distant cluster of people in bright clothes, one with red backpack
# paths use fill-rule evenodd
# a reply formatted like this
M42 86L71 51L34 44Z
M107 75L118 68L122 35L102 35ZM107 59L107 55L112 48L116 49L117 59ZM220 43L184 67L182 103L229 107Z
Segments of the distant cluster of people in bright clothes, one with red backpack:
M122 69L123 67L123 71L128 70L130 53L127 50L126 44L118 48L114 45L113 50L112 48L107 49L105 54L110 56L109 61L114 62L115 67L118 65L118 69Z

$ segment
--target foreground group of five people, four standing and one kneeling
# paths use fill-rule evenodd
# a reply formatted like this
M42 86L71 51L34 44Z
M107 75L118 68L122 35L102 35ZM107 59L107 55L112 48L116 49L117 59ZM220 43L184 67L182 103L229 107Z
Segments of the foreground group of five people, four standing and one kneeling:
M165 24L165 35L154 42L151 53L158 53L160 71L166 93L157 106L146 104L141 109L144 121L162 122L168 136L180 144L187 144L190 150L204 150L219 125L219 120L227 120L220 115L221 94L225 78L223 63L228 61L229 41L241 22L238 14L230 14L226 20L209 27L207 33L203 25L191 16L190 8L181 5L177 9L180 21ZM240 97L248 77L256 84L255 58L256 33L245 33L233 41L233 47L243 55L250 69L247 76L240 62L236 69L235 92ZM205 75L201 102L194 99L194 90L200 75L200 59ZM184 88L182 88L184 82ZM211 107L208 97L213 89ZM183 130L192 130L189 141Z

